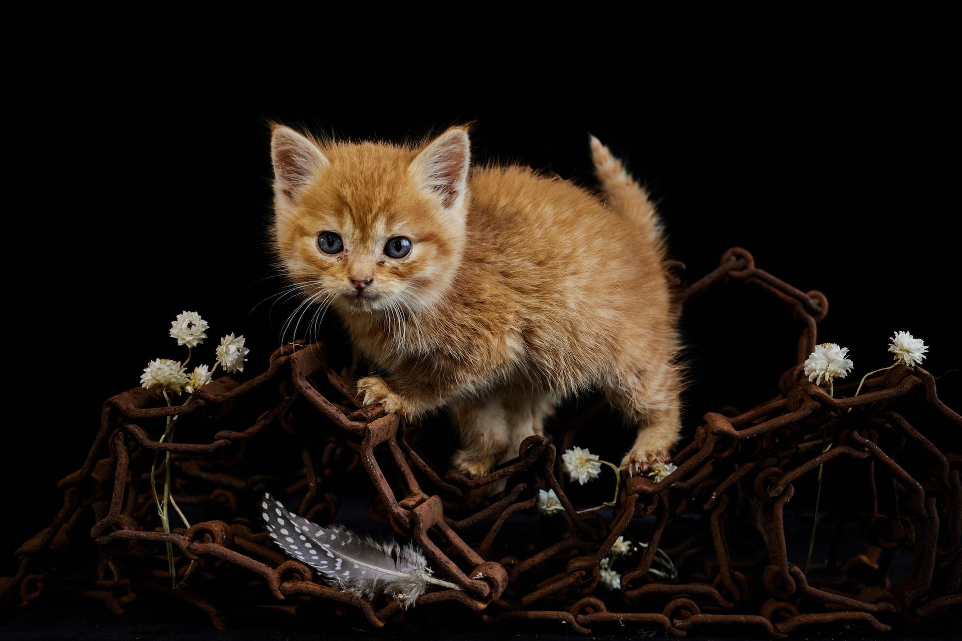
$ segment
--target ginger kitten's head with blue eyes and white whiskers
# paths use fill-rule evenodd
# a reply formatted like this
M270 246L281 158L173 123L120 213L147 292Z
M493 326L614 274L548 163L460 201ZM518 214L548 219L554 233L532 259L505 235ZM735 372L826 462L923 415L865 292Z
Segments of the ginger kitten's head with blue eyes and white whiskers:
M342 142L271 125L279 264L343 311L425 308L465 245L468 126L416 145Z

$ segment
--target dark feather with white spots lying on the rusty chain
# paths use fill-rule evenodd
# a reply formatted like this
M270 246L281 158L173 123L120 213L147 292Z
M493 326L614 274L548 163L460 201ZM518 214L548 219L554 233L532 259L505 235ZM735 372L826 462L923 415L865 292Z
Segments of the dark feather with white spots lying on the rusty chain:
M428 583L461 589L432 577L427 559L412 543L379 543L340 525L321 528L291 514L269 494L264 495L261 508L261 518L274 543L344 592L368 599L383 594L407 609L424 594Z

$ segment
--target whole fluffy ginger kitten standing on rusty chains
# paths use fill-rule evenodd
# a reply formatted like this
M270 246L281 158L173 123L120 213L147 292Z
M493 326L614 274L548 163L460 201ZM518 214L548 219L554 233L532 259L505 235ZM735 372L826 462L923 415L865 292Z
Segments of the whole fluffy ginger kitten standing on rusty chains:
M666 247L646 192L595 136L597 195L470 166L469 125L415 145L270 126L274 251L385 374L357 382L365 406L447 408L454 467L478 477L564 397L600 387L641 425L622 468L670 460L682 383Z

